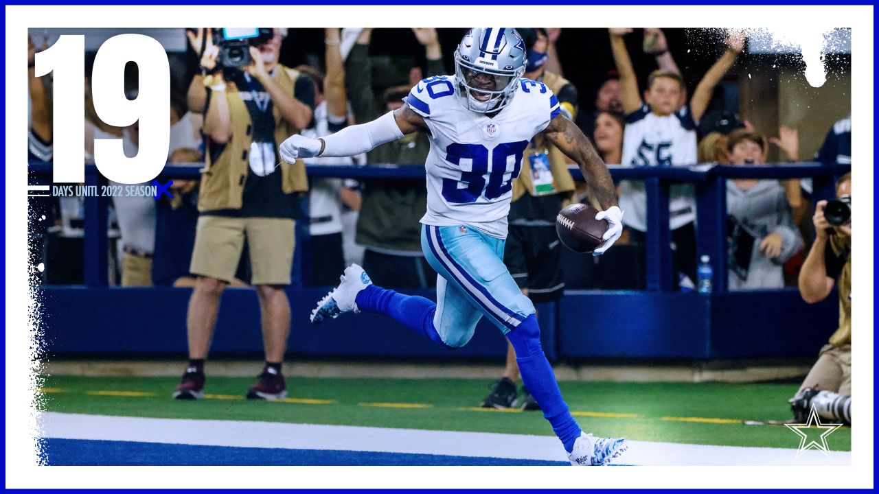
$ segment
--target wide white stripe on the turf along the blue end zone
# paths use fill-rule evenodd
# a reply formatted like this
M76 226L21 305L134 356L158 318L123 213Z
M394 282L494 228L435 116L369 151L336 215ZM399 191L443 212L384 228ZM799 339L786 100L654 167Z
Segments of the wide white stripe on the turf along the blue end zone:
M567 461L551 436L493 432L423 431L350 425L282 424L233 420L138 418L44 412L40 437L70 440L120 440L228 447L330 449L400 454L445 454L522 460ZM833 451L828 458L792 448L731 447L628 441L617 462L627 465L850 465L852 454Z

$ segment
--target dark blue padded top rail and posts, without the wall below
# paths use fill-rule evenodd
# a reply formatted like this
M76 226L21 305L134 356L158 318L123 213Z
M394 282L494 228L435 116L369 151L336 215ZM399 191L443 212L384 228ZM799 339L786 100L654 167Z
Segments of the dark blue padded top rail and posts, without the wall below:
M164 168L160 179L200 178L201 163L174 163ZM835 178L851 171L851 165L828 166L823 163L777 163L767 166L699 165L687 167L628 168L608 166L614 181L643 180L647 192L647 289L667 291L674 287L671 231L669 230L669 187L675 183L692 183L696 193L696 249L708 254L714 271L716 293L727 287L727 214L726 180L729 178L812 178L813 196L828 199L834 195ZM425 178L424 166L371 164L367 166L309 165L310 177L394 179ZM33 179L48 183L51 163L30 163ZM576 165L571 175L583 180ZM94 164L85 166L85 185L105 183ZM84 207L84 280L89 286L107 285L107 198L87 197Z

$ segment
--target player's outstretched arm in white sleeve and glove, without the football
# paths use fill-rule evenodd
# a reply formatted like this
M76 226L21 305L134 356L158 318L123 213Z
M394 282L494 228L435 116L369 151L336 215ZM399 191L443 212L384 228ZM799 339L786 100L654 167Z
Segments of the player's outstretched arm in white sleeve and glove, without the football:
M385 142L396 141L405 134L426 129L425 120L418 113L402 106L365 124L345 127L335 134L311 139L300 134L281 142L280 156L287 163L296 158L314 156L345 157L369 152Z

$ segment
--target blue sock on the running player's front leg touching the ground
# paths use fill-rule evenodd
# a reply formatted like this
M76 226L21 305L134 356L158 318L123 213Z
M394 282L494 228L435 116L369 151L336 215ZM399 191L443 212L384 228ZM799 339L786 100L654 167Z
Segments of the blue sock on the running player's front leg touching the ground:
M541 405L543 417L552 425L559 440L562 440L564 449L570 453L574 448L574 441L580 437L580 426L570 415L568 403L564 403L562 391L558 389L556 374L541 346L541 331L537 325L537 318L532 314L525 321L519 323L519 327L506 334L506 338L512 343L516 351L516 363L519 364L519 374L522 382L531 392L531 396Z

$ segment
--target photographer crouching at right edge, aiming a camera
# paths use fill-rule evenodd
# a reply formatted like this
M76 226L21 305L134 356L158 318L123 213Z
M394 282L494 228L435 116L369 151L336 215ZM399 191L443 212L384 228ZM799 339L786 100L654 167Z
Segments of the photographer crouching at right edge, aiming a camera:
M797 421L804 422L811 406L822 418L851 424L852 403L852 223L851 173L839 178L839 200L818 201L812 222L815 243L800 271L800 294L808 303L825 300L838 284L839 328L818 353L803 385L791 398Z

